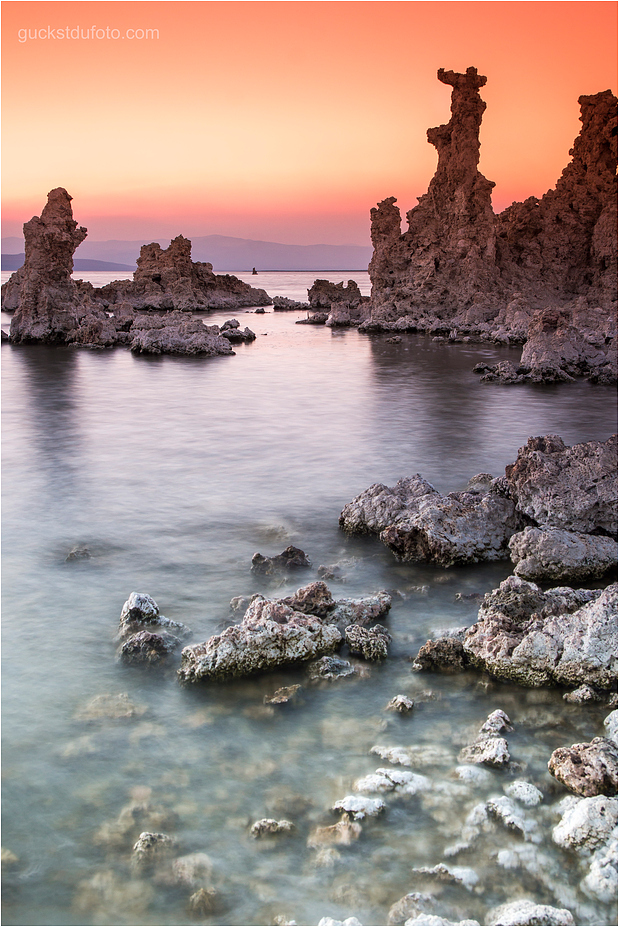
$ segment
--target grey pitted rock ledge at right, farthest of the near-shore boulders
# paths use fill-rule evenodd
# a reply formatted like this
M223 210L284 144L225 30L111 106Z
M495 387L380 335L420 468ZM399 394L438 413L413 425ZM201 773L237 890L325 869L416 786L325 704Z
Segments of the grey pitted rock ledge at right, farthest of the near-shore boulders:
M370 486L340 528L375 534L398 560L438 566L508 560L537 581L582 582L617 565L617 435L572 447L529 438L505 476L439 493L420 474Z

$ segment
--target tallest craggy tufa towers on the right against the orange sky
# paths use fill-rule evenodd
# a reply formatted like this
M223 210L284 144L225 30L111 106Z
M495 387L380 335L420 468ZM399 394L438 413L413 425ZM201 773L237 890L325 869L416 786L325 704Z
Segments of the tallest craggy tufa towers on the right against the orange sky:
M362 330L523 343L520 379L616 379L617 99L582 96L556 188L500 215L477 169L486 78L439 70L451 119L428 130L438 166L401 234L395 197L371 210L371 315ZM513 371L494 378L517 382Z

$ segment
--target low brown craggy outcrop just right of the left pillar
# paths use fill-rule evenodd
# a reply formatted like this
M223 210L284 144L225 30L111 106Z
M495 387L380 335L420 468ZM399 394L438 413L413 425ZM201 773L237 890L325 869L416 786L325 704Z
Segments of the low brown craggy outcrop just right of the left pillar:
M133 280L115 280L98 290L106 308L128 303L135 309L241 309L268 306L257 290L230 274L213 273L213 265L191 260L191 242L178 235L168 248L142 245Z

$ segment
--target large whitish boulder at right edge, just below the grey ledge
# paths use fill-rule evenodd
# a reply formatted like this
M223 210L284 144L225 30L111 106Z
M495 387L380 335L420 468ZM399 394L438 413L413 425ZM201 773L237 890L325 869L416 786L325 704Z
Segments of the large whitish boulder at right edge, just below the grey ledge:
M547 592L516 576L484 597L467 631L469 663L525 686L617 684L617 584Z

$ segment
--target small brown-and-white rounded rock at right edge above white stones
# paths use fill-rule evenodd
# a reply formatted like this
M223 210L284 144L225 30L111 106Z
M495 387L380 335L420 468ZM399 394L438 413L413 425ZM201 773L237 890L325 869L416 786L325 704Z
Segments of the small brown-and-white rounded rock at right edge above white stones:
M558 747L548 761L555 779L583 798L617 794L617 745L606 737Z

